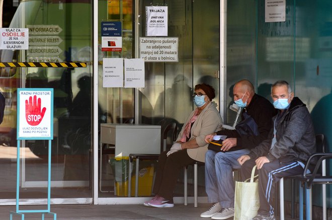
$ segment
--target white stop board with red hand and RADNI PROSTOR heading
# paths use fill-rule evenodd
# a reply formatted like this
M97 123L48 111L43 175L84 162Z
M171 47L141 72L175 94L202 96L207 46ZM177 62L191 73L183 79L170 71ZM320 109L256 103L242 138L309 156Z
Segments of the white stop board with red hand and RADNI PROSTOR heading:
M53 89L19 89L18 139L53 138Z

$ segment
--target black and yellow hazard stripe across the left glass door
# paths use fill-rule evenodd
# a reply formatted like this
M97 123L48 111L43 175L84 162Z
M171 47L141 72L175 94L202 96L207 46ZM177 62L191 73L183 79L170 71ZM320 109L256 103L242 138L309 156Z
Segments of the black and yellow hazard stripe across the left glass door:
M87 67L87 62L0 62L0 67Z

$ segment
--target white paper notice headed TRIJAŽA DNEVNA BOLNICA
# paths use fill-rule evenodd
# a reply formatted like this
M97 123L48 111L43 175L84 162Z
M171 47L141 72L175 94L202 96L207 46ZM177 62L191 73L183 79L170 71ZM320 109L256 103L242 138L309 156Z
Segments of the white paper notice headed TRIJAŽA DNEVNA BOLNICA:
M168 7L146 6L146 36L168 35Z

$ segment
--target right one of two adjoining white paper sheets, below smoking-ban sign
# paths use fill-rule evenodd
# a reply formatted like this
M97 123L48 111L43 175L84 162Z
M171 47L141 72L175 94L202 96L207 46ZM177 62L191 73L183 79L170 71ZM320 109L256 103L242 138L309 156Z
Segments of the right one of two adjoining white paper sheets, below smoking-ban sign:
M125 88L144 88L144 77L143 59L125 59Z

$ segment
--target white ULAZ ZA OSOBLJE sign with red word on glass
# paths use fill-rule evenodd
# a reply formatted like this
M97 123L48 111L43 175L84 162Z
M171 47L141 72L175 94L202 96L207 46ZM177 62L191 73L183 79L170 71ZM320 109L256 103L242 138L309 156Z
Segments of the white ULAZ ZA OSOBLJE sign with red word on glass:
M28 28L0 28L0 49L27 50L29 48Z

